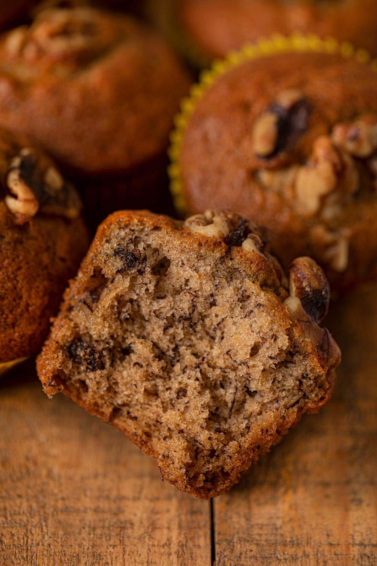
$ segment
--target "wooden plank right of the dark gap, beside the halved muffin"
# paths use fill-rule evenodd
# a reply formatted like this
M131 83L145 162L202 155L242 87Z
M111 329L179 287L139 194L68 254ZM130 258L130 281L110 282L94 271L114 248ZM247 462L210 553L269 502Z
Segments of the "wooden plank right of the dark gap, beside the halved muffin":
M377 293L332 307L331 402L214 501L216 566L377 564Z

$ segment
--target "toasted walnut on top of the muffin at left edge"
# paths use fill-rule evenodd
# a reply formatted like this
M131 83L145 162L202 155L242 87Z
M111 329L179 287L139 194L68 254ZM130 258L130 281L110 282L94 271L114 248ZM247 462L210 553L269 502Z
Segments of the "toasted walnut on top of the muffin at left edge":
M75 189L33 148L21 149L12 159L6 184L11 195L6 195L5 203L16 215L32 217L41 209L73 219L80 213L81 202Z

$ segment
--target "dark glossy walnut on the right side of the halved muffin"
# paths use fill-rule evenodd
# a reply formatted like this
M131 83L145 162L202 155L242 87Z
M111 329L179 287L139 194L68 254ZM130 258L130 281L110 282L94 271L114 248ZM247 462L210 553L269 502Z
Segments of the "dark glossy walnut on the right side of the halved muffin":
M318 324L328 309L330 293L322 269L311 258L298 258L289 268L290 295L283 305L329 365L339 363L340 350L326 328Z

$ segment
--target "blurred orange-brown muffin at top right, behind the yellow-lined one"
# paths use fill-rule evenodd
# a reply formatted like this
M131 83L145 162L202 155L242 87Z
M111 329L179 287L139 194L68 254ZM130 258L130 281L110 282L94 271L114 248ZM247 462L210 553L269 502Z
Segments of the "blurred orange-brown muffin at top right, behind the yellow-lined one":
M197 66L275 33L317 33L377 55L375 0L148 0L149 18Z

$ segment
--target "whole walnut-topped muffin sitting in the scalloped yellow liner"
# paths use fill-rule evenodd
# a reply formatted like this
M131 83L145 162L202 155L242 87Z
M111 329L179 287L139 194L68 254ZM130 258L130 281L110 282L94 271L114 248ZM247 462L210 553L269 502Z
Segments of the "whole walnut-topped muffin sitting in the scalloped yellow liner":
M310 255L333 290L376 278L372 67L339 53L240 54L206 81L173 136L173 189L188 213L232 207L271 230L285 268Z

